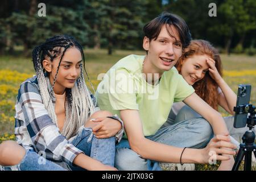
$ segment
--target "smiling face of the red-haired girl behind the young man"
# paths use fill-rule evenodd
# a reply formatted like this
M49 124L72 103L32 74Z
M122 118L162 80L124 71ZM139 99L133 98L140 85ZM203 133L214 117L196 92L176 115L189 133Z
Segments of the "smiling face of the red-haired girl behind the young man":
M210 58L208 55L194 55L183 60L181 75L189 85L193 85L204 78L205 73L209 69L206 61L208 58Z

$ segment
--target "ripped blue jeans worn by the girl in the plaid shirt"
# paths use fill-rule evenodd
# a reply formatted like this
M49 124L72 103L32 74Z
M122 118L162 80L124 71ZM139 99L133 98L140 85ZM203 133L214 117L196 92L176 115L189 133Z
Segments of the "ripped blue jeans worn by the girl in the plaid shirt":
M99 160L101 163L114 166L114 156L115 156L115 138L105 138L97 139L92 135L92 129L83 128L72 140L72 144L79 148L85 153L85 155L90 156L93 159ZM92 137L92 140L89 140ZM42 161L40 163L40 161ZM15 166L0 166L2 170L20 170L20 171L65 171L67 169L73 171L85 170L78 166L60 166L51 160L47 160L37 154L34 150L26 150L26 154L22 161Z

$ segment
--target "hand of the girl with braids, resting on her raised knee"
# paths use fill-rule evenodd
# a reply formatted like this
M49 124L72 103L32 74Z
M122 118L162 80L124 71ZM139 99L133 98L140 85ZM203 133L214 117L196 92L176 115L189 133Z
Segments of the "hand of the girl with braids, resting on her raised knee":
M93 122L100 122L92 128L96 138L113 137L122 128L121 123L112 118L96 118Z

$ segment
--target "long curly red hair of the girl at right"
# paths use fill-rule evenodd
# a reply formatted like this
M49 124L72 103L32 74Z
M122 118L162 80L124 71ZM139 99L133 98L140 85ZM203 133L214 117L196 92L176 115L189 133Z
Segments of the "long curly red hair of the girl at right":
M175 67L177 71L181 74L181 67L184 61L189 57L195 55L208 55L215 61L215 66L218 73L222 76L222 64L220 55L216 48L212 46L206 40L192 40L188 47L183 49L183 53L177 61ZM196 94L199 95L207 104L209 104L213 109L218 110L218 84L209 75L209 71L205 73L203 79L195 82L193 88Z

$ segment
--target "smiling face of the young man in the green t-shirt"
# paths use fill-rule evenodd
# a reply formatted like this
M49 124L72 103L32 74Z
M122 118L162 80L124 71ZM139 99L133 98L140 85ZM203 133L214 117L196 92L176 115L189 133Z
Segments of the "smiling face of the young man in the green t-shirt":
M168 32L171 32L174 37L170 36ZM144 37L143 48L148 52L145 63L150 64L152 73L163 73L170 70L182 52L182 44L176 28L166 25L162 26L156 40Z

